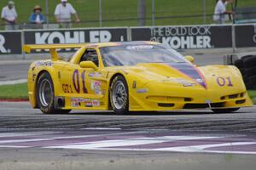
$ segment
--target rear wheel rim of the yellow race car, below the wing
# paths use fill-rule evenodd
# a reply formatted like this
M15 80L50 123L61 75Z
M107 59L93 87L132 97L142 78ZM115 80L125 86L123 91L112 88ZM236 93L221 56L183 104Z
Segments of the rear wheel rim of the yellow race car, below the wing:
M39 99L44 107L49 105L49 102L52 100L52 88L50 82L47 79L44 79L40 83L39 87Z

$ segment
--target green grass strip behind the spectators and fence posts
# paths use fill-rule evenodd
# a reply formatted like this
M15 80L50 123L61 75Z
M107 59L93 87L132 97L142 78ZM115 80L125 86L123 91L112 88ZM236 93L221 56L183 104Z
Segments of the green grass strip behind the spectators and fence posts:
M49 21L54 22L54 11L60 0L49 1ZM8 0L0 1L0 8L6 5ZM15 7L18 13L19 23L27 22L32 8L38 4L45 9L44 0L15 0ZM73 25L75 27L94 27L99 26L99 1L98 0L69 0L77 10L81 24ZM103 22L103 26L138 26L137 20L137 2L138 0L102 0L102 19L108 20ZM239 6L256 6L255 0L240 0ZM152 0L146 0L146 17L147 26L151 26L151 5ZM215 0L206 0L207 22L212 23L212 14L215 6ZM229 6L230 9L230 6ZM44 11L43 11L44 12ZM199 14L195 18L167 18L157 19L157 26L164 25L198 25L203 24L202 0L155 0L155 16L179 16ZM133 19L133 20L127 20ZM2 22L3 24L3 22Z

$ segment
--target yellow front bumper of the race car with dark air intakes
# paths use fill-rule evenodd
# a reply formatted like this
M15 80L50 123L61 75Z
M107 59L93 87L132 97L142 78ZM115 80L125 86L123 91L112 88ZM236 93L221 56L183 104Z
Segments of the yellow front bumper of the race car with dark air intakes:
M253 106L246 89L224 91L205 88L151 88L147 94L130 94L130 111L176 111L185 109L224 109ZM134 94L134 95L132 95Z

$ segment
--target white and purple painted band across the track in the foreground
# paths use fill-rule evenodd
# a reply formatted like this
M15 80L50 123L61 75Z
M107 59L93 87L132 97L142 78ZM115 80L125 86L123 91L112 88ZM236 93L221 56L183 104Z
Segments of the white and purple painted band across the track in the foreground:
M32 138L32 135L42 136ZM142 134L140 134L142 133ZM61 135L61 136L55 136ZM139 134L133 135L133 134ZM197 135L163 135L145 136L146 132L100 133L92 135L68 135L66 133L0 133L0 148L47 148L47 149L78 149L78 150L130 150L130 151L170 151L183 153L224 153L224 154L253 154L256 155L256 139L247 139L244 135L231 134L197 134ZM64 135L64 136L63 136ZM123 136L124 135L124 136ZM142 136L143 135L143 136ZM22 139L20 137L28 137ZM106 139L106 136L113 138ZM3 140L1 140L3 137ZM18 137L17 139L8 139ZM98 138L99 137L99 138ZM7 138L7 139L5 139ZM67 139L65 143L58 141ZM71 139L71 140L68 140ZM74 142L73 139L77 142ZM238 141L238 139L242 139ZM247 139L247 141L244 141ZM51 141L56 140L56 141ZM41 145L41 142L44 144ZM45 142L48 141L48 142ZM28 144L24 144L24 143ZM216 143L217 142L217 143ZM149 145L148 145L149 144ZM240 147L236 147L240 146ZM251 148L251 149L250 149Z

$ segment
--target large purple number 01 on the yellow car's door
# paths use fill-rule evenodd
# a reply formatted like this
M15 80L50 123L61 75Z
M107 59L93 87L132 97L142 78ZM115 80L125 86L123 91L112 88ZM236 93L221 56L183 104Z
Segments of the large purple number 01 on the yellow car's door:
M87 89L85 87L85 71L81 74L82 84L83 84L83 93L87 94ZM79 83L79 70L73 71L73 88L75 88L76 92L80 94L80 83Z

